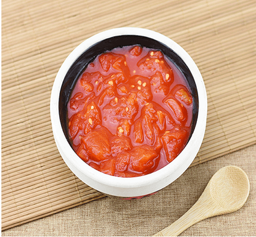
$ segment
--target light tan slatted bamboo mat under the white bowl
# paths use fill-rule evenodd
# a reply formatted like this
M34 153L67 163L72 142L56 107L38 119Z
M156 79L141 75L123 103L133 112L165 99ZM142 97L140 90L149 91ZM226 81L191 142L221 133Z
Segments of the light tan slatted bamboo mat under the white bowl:
M256 143L253 1L2 1L2 230L102 198L65 165L51 130L54 78L89 36L135 26L178 42L208 95L192 166Z

